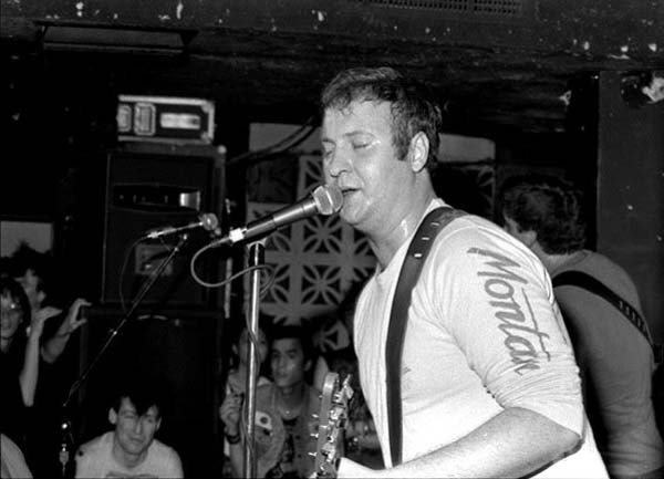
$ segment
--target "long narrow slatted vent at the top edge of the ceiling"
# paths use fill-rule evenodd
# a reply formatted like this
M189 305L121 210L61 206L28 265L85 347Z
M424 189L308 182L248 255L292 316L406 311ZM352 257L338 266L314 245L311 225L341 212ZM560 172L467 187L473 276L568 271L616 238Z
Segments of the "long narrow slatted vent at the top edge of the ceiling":
M456 15L523 17L523 0L356 0L387 8L435 10Z

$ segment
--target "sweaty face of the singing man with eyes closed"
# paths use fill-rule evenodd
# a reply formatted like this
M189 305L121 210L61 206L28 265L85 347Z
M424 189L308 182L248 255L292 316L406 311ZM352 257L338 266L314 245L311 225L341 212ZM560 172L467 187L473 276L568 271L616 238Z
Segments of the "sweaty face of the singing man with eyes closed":
M355 101L326 110L321 142L325 183L343 192L341 217L364 232L391 227L385 219L408 207L409 162L397 158L391 104Z

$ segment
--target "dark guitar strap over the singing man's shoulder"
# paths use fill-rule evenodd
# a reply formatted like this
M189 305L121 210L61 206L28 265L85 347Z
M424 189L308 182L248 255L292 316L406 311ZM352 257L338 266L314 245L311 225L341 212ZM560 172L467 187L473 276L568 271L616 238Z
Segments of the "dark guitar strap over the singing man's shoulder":
M439 207L424 218L408 246L408 251L396 283L394 299L392 300L387 341L385 343L387 425L392 466L397 466L402 462L401 373L408 308L411 306L411 293L419 278L419 272L436 236L452 220L464 215L466 212L461 210L450 207Z

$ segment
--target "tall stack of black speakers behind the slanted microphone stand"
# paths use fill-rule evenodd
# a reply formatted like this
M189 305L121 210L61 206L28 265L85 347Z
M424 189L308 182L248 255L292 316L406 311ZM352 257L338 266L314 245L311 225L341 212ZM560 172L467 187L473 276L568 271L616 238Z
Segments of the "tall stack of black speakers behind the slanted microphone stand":
M180 238L151 240L146 232L195 222L204 212L220 217L224 158L210 146L141 145L93 159L79 170L61 236L70 289L93 303L80 333L79 375L95 363L77 392L80 439L111 428L108 400L120 383L145 377L168 392L157 437L178 450L186 473L209 472L200 465L216 456L219 442L224 294L189 272L191 254L210 241L209 232L191 230L135 314L126 312ZM206 280L218 280L224 259L204 254L196 268Z

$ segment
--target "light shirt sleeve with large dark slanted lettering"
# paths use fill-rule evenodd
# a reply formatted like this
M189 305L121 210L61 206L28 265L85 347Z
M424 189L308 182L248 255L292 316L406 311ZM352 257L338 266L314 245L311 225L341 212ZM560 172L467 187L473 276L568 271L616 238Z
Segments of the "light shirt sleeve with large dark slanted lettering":
M437 315L486 391L582 436L579 371L539 260L497 228L457 228L434 253Z

